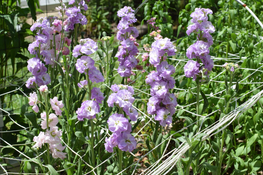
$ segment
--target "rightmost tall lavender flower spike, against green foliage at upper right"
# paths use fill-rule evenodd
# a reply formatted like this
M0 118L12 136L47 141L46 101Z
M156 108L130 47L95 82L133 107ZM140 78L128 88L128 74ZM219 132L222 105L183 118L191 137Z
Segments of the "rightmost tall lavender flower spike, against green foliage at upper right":
M213 38L210 33L214 33L215 27L208 21L208 14L212 14L212 10L205 8L195 8L191 13L191 24L187 27L186 34L195 33L197 41L186 50L186 56L189 59L197 59L197 61L189 60L184 66L186 77L193 77L195 80L197 76L206 75L209 77L210 71L214 66L214 62L209 55L209 47L213 44ZM200 60L203 66L200 67Z

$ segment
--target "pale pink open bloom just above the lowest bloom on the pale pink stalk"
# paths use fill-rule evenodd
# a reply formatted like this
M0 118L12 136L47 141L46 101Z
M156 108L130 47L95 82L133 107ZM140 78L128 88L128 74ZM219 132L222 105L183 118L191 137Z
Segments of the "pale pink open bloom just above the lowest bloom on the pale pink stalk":
M49 130L47 129L45 142L48 144L59 144L60 143L59 137L61 136L62 136L62 131L58 130L57 126L53 126Z

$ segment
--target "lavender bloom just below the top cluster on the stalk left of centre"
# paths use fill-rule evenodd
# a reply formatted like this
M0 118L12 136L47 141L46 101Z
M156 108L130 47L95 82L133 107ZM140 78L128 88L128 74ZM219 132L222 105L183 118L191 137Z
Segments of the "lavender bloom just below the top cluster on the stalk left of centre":
M76 70L79 73L84 73L85 70L94 68L95 61L89 56L81 56L80 59L77 59L77 63L75 64Z

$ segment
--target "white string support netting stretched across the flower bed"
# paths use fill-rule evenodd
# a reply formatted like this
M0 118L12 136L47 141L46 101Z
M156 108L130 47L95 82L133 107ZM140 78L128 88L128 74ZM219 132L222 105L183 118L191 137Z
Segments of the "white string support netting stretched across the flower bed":
M263 40L263 37L260 36L260 39ZM257 43L258 44L258 43ZM257 45L255 44L255 45ZM239 58L239 56L237 54L229 54L230 57L229 58L216 58L216 57L212 57L212 59L214 60L214 63L215 65L214 66L220 66L222 67L222 65L219 65L219 64L216 64L218 61L220 60L225 60L226 62L234 62L234 63L242 63L244 62L247 58L246 57L241 57L241 59ZM138 55L139 56L139 55ZM178 56L178 55L177 55ZM180 56L180 55L179 55ZM180 62L187 62L188 59L171 59L171 60L175 60L177 61L176 64L174 65L175 68L178 67L179 63ZM241 79L239 81L240 84L256 84L258 85L256 88L252 89L251 91L247 92L246 94L240 96L240 97L237 97L234 99L233 102L236 102L236 105L235 105L235 108L234 110L232 110L230 113L226 114L224 117L222 117L220 120L216 121L215 123L211 124L210 126L204 128L204 129L200 129L199 128L199 131L197 134L201 134L201 133L204 133L206 135L204 135L202 137L202 141L208 139L209 137L215 135L216 133L222 131L224 128L226 128L228 125L230 125L235 119L237 119L242 113L244 113L246 110L248 110L249 108L251 108L262 96L263 96L263 90L258 92L257 94L255 94L252 98L248 99L245 103L237 106L237 100L246 96L247 94L251 94L253 93L253 91L255 91L256 89L262 89L262 86L263 86L263 82L255 82L255 80L253 78L250 78L255 72L263 72L261 69L262 69L262 66L261 65L259 68L257 69L251 69L251 68L240 68L241 70L248 70L249 73L246 77L244 77L243 79ZM215 77L212 77L210 81L212 82L217 82L217 83L224 83L224 81L222 81L221 79L218 79L219 75L221 75L222 73L224 73L225 70L222 69L222 72L220 72L218 75L216 75ZM149 72L146 71L144 73L141 73L140 76L145 76L147 75ZM114 76L117 76L118 74L114 75ZM138 76L137 79L140 77ZM181 77L183 77L183 75L180 75L178 77L174 77L175 80L177 81L178 79L180 79ZM135 79L136 80L136 79ZM134 80L134 81L135 81ZM235 82L233 82L233 84L235 84ZM0 97L3 96L3 95L7 95L11 92L17 92L17 91L20 91L21 93L23 93L23 95L25 97L28 97L26 93L23 92L23 89L22 89L22 86L24 84L22 84L21 86L18 86L18 85L14 85L12 83L9 83L9 86L17 86L17 88L15 90L12 90L10 92L7 92L7 93L3 93L3 94L0 94ZM131 85L131 84L130 84ZM232 88L234 88L235 85L232 86ZM146 89L148 88L148 89ZM191 89L195 89L196 87L194 88L191 88ZM187 90L185 89L180 89L180 88L176 88L175 89L177 90L177 93L175 95L178 95L180 93L186 93ZM147 95L150 95L148 92L149 92L149 86L148 85L145 85L145 89L142 91L140 89L138 89L136 86L134 87L134 91L135 91L135 94L140 94L140 93L145 93ZM214 94L205 94L207 96L207 98L219 98L219 99L223 99L221 98L222 94L225 93L225 89L220 91L220 92L217 92L217 93L214 93ZM148 100L148 99L136 99L136 100ZM203 100L200 100L200 102L203 101ZM2 102L3 103L3 102ZM187 107L191 106L191 105L196 105L196 102L195 103L191 103L191 104L187 104L185 106L182 106L180 104L177 105L176 107L176 111L177 112L180 112L181 110L183 110L184 112L187 112L187 113L190 113L190 114L193 114L195 116L197 116L197 114L195 114L193 111L188 111L186 110ZM154 116L149 116L148 114L145 114L143 111L141 111L140 109L136 108L135 106L133 106L135 109L138 110L138 112L140 113L140 118L144 119L145 121L148 121L144 124L144 126L142 126L140 128L140 130L135 134L135 138L138 134L140 134L141 130L143 130L146 126L149 125L150 122L153 122L155 123L154 121ZM2 107L0 108L0 119L3 118L4 116L5 117L8 117L10 120L12 120L13 124L17 125L19 129L17 130L12 130L12 131L0 131L1 134L4 134L5 132L17 132L17 131L26 131L28 132L29 134L31 134L31 132L28 131L29 128L33 127L24 127L22 125L20 125L19 123L17 123L14 119L12 119L12 115L15 115L15 114L19 114L19 113L9 113L8 111L4 110ZM211 115L213 115L214 113L218 112L218 110L215 110L213 111L212 113L206 115L206 116L203 116L203 115L199 115L200 116L200 123L203 123L204 119L206 117L209 117ZM3 115L2 112L6 113L6 115ZM32 111L31 111L32 112ZM1 121L1 120L0 120ZM95 121L94 121L95 122ZM76 123L78 123L78 121L76 121ZM194 125L196 122L192 123L191 125ZM190 125L189 125L190 126ZM185 128L182 128L180 130L178 130L177 132L175 132L174 134L171 134L167 139L165 139L163 142L165 141L168 141L166 147L165 147L165 151L162 155L162 157L156 161L154 164L150 165L150 167L146 168L141 168L140 169L140 174L167 174L169 173L169 171L171 169L173 169L173 167L176 165L176 163L180 160L180 158L183 156L183 154L189 149L189 145L187 144L187 142L182 142L180 143L180 146L173 149L173 150L169 150L168 151L168 146L170 144L170 140L171 138L173 138L173 136L176 134L176 133L179 133L183 130L185 130L186 128L188 128L189 126L186 126ZM100 127L100 126L99 126ZM105 133L106 135L109 135L108 133L108 129L105 129L103 127L100 127ZM164 128L163 128L164 129ZM165 130L166 131L166 130ZM168 131L166 131L168 132ZM196 135L197 135L196 134ZM105 135L105 136L106 136ZM195 136L196 136L195 135ZM101 138L101 140L99 142L103 142L105 140L105 136L103 138ZM33 144L32 143L26 143L26 144L16 144L16 145L11 145L9 144L6 140L4 140L3 138L0 137L0 140L2 141L2 143L6 143L8 146L2 146L0 145L0 147L5 147L5 148L12 148L14 149L15 151L17 151L18 153L22 154L24 157L24 159L21 159L19 157L0 157L2 160L5 160L6 162L8 161L17 161L17 162L22 162L22 161L27 161L29 159L31 159L30 157L28 157L27 155L25 155L21 150L18 150L16 149L14 146L19 146L19 145L28 145L29 147L31 147L31 145ZM105 163L108 159L112 158L113 156L115 156L116 153L114 153L112 156L110 156L107 160L103 161L102 163L100 163L99 165L97 165L96 167L92 167L91 165L89 165L87 162L85 162L83 160L83 157L84 156L80 156L77 151L74 151L72 148L70 148L66 142L64 140L62 140L62 142L65 144L65 146L68 147L68 149L70 149L73 153L73 155L77 155L78 158L80 158L82 160L82 162L90 167L92 169L92 171L94 172L94 170L101 166L103 163ZM99 143L98 142L98 143ZM137 161L135 161L132 165L128 166L128 167L125 167L125 169L123 169L123 171L127 170L127 169L130 169L132 168L133 169L133 174L136 172L136 168L138 167L139 165L139 162L146 156L148 156L148 154L150 152L152 152L154 149L156 149L158 146L160 146L163 142L161 142L159 145L156 145L151 151L149 151L148 153L146 153L145 155L141 156L141 157L137 157L136 155L134 155L133 153L129 153L131 154L131 156L134 156L134 158L138 159ZM96 147L97 145L94 146L94 148ZM43 153L41 153L43 154ZM40 154L40 155L41 155ZM38 156L36 156L35 158L38 158ZM34 161L33 161L34 162ZM1 163L4 163L4 162L0 162L0 167L1 169L3 170L3 174L36 174L36 173L14 173L14 172L8 172L5 167L6 166L2 166ZM72 165L72 166L78 166L78 161ZM71 167L72 167L71 166ZM70 167L69 167L70 168ZM62 171L65 171L65 169L62 169L60 170L59 172L62 172ZM90 171L90 172L92 172ZM122 172L123 172L122 171ZM86 174L89 174L90 172L87 172ZM119 172L118 174L122 173L122 172ZM95 173L95 172L94 172ZM2 174L1 174L2 175Z

